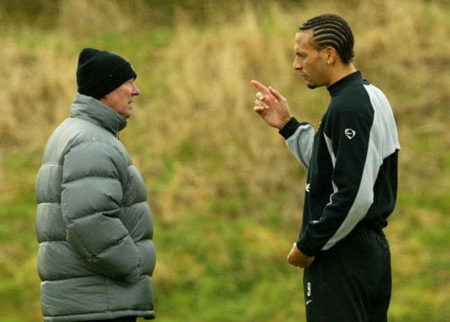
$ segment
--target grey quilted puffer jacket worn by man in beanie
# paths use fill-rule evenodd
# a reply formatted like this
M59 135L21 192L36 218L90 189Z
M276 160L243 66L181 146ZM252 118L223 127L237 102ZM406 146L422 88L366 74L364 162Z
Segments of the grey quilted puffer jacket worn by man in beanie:
M156 261L145 184L116 133L127 122L77 94L35 187L44 321L154 318Z

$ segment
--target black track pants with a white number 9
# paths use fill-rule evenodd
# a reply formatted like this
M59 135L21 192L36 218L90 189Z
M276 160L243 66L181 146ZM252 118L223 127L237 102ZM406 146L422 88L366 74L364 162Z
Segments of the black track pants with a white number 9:
M388 240L368 228L354 231L305 269L307 321L387 321L391 287Z

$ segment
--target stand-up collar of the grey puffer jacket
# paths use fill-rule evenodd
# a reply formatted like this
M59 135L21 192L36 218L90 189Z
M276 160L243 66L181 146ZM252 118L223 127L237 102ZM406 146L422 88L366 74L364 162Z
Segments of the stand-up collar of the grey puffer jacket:
M93 97L82 94L76 94L73 97L70 117L78 117L98 124L114 135L127 126L127 120L112 108Z

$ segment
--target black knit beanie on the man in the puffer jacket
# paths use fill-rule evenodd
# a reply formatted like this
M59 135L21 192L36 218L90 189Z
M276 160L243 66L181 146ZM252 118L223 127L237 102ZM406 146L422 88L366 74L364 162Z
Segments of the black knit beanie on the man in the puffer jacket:
M119 55L94 48L84 48L78 57L78 93L100 100L136 73Z

